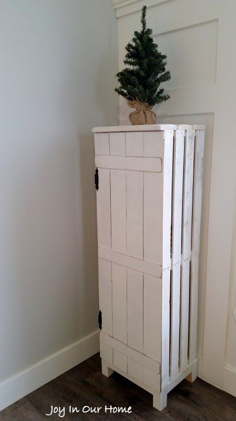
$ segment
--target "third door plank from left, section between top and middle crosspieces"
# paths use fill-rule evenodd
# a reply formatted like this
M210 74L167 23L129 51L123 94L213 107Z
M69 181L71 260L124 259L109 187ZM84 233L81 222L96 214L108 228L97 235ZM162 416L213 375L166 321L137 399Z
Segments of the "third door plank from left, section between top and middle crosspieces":
M126 171L127 254L143 259L143 172Z

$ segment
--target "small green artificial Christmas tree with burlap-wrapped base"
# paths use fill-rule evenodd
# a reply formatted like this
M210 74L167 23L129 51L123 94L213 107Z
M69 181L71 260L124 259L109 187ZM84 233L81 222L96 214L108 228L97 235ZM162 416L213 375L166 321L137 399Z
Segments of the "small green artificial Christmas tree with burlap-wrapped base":
M160 83L170 79L170 72L165 71L166 55L161 54L153 42L152 29L146 28L146 6L142 7L141 23L142 30L135 31L132 43L125 48L124 64L130 67L116 75L120 86L115 91L137 110L130 114L132 125L155 124L153 105L170 98L164 89L158 89Z

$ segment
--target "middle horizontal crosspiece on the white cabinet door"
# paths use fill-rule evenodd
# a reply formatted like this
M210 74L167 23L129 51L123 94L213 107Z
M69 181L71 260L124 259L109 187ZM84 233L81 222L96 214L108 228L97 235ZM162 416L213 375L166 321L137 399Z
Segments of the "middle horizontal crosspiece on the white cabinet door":
M104 260L108 260L112 263L117 263L117 265L122 265L126 268L134 269L135 271L154 276L156 278L161 278L162 276L161 265L146 262L145 260L137 259L136 257L127 256L114 250L98 247L98 257Z

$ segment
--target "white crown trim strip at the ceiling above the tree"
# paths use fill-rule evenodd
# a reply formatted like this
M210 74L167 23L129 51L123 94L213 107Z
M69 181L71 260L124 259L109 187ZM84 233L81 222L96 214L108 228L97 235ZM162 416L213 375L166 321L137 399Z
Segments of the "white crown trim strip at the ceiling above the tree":
M112 4L116 11L116 17L125 16L142 9L143 4L147 7L155 4L164 3L170 0L112 0Z

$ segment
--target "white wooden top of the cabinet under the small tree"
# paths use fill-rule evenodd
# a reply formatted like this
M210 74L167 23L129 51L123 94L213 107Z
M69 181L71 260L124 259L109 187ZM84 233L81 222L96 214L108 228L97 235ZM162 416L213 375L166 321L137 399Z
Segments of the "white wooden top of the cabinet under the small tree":
M106 132L154 132L164 130L205 130L206 127L202 125L190 124L147 124L143 126L112 126L112 127L94 127L94 133Z

